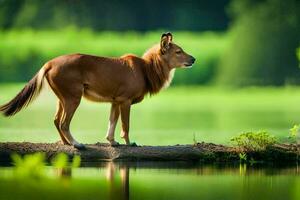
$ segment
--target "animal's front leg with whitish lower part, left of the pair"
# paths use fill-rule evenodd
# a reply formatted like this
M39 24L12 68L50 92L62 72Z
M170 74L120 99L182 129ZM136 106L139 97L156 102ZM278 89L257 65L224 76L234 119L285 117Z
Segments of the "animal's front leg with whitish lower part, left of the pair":
M110 116L109 116L109 125L106 133L106 139L109 141L110 145L112 146L119 145L119 143L115 141L115 129L116 129L119 115L120 115L119 104L112 103Z

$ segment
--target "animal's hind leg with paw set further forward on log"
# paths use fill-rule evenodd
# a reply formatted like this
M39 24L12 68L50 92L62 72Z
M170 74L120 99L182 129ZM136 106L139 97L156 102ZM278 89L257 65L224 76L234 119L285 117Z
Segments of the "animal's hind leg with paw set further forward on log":
M64 99L63 101L63 118L60 123L60 129L63 136L66 138L69 144L73 145L77 149L84 149L83 144L78 143L70 132L70 123L73 118L74 112L79 106L81 98Z

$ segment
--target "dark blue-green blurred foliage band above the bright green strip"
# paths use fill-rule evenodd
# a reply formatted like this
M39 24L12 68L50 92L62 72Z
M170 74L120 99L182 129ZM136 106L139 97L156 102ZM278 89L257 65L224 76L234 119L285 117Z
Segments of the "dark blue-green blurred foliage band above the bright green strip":
M229 0L0 0L0 27L95 31L224 30ZM197 20L195 20L197 19Z

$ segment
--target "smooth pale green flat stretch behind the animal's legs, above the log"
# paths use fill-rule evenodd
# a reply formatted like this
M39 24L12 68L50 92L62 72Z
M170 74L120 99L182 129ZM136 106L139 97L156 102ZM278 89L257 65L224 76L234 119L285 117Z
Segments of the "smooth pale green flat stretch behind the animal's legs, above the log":
M0 84L0 104L23 85ZM283 141L300 121L299 102L297 87L171 87L132 107L130 136L148 145L191 144L193 140L227 144L241 132L266 130ZM0 117L0 141L58 141L55 108L56 97L45 89L16 116ZM75 138L84 143L105 142L109 109L109 104L83 100L71 124ZM118 126L116 139L121 141L119 132Z

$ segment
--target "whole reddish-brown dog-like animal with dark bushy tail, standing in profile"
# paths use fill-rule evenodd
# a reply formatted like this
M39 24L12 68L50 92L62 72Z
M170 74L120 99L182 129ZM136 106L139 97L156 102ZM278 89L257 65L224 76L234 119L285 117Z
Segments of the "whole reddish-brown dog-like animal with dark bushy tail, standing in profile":
M118 145L114 132L121 114L121 137L130 145L131 105L168 85L173 69L190 67L194 62L194 57L172 42L171 33L162 34L160 44L150 48L141 58L135 55L120 58L83 54L60 56L48 61L14 99L0 107L0 111L12 116L26 107L39 94L46 78L58 97L54 124L64 144L85 148L72 137L69 129L84 96L91 101L111 103L106 139L111 145Z

